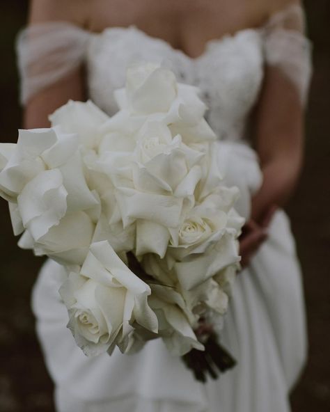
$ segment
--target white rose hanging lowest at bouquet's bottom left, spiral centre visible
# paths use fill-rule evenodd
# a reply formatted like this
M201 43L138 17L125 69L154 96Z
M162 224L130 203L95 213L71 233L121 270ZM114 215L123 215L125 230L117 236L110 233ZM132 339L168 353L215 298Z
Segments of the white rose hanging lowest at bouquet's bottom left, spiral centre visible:
M68 327L88 356L111 351L134 322L157 333L157 317L147 301L150 287L107 241L91 245L80 274L70 274L60 292L70 314Z

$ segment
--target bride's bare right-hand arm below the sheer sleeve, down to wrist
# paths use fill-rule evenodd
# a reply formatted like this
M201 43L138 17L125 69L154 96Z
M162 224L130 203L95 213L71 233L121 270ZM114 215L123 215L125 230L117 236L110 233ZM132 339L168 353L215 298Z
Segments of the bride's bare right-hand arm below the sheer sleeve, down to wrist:
M303 109L297 88L281 70L268 68L256 115L256 150L263 183L253 198L252 219L290 198L303 158Z

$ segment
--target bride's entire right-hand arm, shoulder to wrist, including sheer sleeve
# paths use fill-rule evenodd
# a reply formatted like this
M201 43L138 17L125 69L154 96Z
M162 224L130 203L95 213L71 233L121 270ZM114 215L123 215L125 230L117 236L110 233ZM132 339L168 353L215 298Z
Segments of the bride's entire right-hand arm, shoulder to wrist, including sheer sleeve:
M254 138L264 177L253 198L252 218L256 221L272 205L285 205L303 159L304 100L311 72L304 12L300 1L277 2L282 12L273 13L266 28L265 81L255 119Z

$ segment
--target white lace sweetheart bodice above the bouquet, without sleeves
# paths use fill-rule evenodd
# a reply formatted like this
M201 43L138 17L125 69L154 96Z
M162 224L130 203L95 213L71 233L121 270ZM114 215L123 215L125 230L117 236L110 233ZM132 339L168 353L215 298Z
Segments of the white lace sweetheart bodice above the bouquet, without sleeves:
M88 90L109 114L117 111L113 91L123 87L127 65L134 61L161 63L182 83L198 86L210 109L211 126L219 134L228 134L242 127L258 97L263 77L262 36L246 29L207 42L200 57L190 58L134 26L95 35L87 52Z

